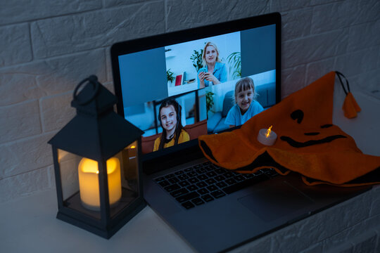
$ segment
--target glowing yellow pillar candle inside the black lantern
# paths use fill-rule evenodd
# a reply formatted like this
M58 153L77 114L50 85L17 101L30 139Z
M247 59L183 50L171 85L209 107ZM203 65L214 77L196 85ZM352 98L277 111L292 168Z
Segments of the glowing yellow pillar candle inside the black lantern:
M110 206L115 205L122 195L120 161L116 157L107 160L108 195ZM80 200L87 209L99 211L99 168L98 162L82 158L78 166Z

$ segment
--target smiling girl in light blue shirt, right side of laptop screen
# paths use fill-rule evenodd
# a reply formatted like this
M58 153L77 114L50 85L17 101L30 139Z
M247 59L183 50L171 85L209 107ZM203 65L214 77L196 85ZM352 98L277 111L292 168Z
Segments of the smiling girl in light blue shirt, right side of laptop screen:
M255 85L251 77L244 77L235 85L235 105L229 109L224 124L229 127L240 126L264 108L255 100Z

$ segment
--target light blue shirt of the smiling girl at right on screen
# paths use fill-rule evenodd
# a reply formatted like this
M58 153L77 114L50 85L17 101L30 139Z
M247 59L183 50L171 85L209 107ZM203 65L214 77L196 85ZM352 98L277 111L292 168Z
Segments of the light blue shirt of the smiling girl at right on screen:
M241 115L239 105L234 105L231 109L229 109L224 124L240 126L246 123L248 119L251 119L251 117L257 115L263 110L264 108L262 108L260 103L258 103L256 100L252 101L251 105L249 105L249 108L246 113L244 113L244 115Z

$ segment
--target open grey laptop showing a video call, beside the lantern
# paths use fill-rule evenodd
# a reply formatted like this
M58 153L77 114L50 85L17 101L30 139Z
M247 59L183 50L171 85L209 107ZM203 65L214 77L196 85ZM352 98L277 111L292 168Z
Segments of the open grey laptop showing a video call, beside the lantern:
M123 41L110 54L118 113L144 131L144 198L196 252L233 249L369 189L236 174L198 148L198 136L247 120L232 122L234 107L255 105L254 115L279 103L279 13Z

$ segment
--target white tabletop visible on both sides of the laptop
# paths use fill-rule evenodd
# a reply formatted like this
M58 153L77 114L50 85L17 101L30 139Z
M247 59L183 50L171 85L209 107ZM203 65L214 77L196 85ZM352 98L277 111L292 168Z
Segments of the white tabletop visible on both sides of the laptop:
M363 153L380 155L380 100L353 94L362 112L346 119L344 93L336 86L334 124L353 136ZM1 203L0 252L194 252L150 207L110 240L56 219L57 210L55 189Z

